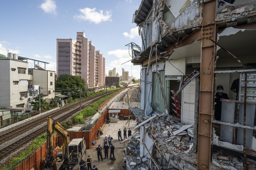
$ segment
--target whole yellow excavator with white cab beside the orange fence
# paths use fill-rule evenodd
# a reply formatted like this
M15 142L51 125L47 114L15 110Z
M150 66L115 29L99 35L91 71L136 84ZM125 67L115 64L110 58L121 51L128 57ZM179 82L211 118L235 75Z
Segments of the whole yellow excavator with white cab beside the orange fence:
M56 160L57 151L53 148L53 133L58 132L63 138L63 145L60 147L62 158ZM46 169L59 169L66 162L75 164L80 161L85 153L86 144L84 138L73 139L69 141L68 130L63 128L59 122L52 119L51 116L47 119L47 156L44 159ZM56 152L56 154L54 154Z

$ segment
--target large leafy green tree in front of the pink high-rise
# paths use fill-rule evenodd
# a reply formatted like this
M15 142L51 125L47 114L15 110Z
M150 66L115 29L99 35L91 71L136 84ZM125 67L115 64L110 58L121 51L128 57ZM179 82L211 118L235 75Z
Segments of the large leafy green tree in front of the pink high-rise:
M70 92L72 98L80 97L80 87L82 88L82 97L86 97L86 83L79 76L61 74L55 81L55 92L67 95Z

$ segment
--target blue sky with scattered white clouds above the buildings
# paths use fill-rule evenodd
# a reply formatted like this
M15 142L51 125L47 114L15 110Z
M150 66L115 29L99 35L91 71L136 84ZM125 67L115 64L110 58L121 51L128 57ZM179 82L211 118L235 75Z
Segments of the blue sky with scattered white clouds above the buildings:
M132 14L140 0L8 0L1 1L0 54L7 50L19 56L49 62L46 69L56 71L56 39L76 40L84 30L96 50L106 58L106 73L122 67L138 79L140 66L131 62L128 47L141 46ZM32 67L34 62L29 63ZM39 63L40 66L44 66Z

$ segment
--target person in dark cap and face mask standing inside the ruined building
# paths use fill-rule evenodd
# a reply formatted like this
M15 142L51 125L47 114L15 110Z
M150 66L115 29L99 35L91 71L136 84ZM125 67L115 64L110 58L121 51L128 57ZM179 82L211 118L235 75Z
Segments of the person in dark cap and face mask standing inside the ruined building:
M219 85L217 86L217 93L215 94L215 105L214 105L214 116L215 116L215 120L220 120L221 118L221 105L222 105L222 101L221 99L229 99L228 98L228 94L223 93L223 86Z

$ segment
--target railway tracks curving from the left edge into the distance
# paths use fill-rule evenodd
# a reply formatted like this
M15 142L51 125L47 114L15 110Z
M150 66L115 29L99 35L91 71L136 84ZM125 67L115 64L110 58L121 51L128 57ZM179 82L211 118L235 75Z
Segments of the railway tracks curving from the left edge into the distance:
M116 90L109 91L108 95L112 94L114 92L116 92ZM92 104L93 102L97 101L98 99L100 99L100 98L102 98L104 96L106 96L106 93L102 93L102 94L99 94L99 95L96 95L96 96L84 99L83 103L81 102L81 109L86 107L86 106L88 106L88 105L90 105L90 104ZM78 103L79 102L77 102L75 104L72 104L72 106L65 107L65 109L64 108L60 109L59 110L60 114L62 114L63 112L67 112L68 110L77 107ZM78 111L79 111L79 108L76 108L76 109L68 112L67 114L61 116L59 119L56 119L56 121L61 123L62 121L66 120L68 117L70 117L71 115L75 114ZM58 114L58 115L60 115L60 114ZM14 129L14 130L6 133L6 134L1 135L0 136L0 141L1 142L2 142L2 140L8 141L10 138L13 138L13 135L21 134L21 133L23 133L25 131L28 131L29 129L32 129L32 128L38 126L39 125L38 122L40 122L40 124L42 124L43 122L46 122L46 119L48 118L49 115L52 115L52 117L53 116L54 117L57 116L56 112L51 112L51 114L48 114L47 116L44 116L44 117L42 117L42 118L40 118L38 120L35 120L35 121L31 122L31 123L26 124L26 125L24 125L24 126L22 126L20 128L16 128L16 129ZM18 130L18 129L20 129L20 130ZM29 141L35 139L39 135L42 135L42 134L46 133L46 129L47 129L47 125L45 125L42 128L39 128L39 129L35 130L34 132L32 132L32 133L24 136L23 138L20 138L17 141L15 141L15 142L9 144L8 146L4 147L3 149L0 150L0 159L3 158L4 156L6 156L7 154L10 155L11 153L15 152L22 145L24 145L24 144L28 143ZM15 132L15 130L18 131L18 132Z

